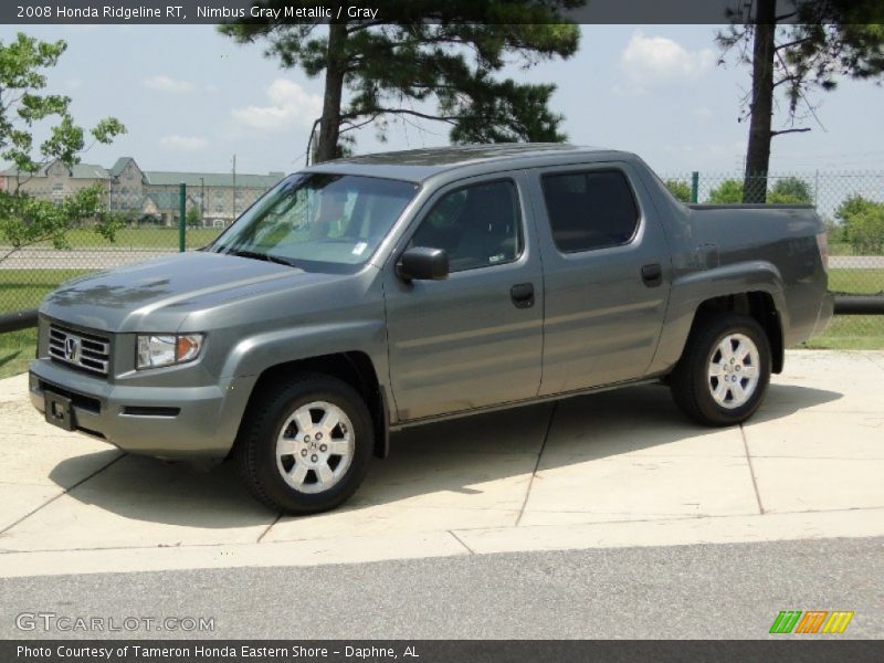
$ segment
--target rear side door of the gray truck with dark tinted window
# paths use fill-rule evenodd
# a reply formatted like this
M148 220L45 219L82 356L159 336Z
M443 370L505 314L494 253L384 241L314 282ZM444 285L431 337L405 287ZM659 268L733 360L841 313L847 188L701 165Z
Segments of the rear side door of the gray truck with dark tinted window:
M671 263L650 194L624 162L534 171L545 272L541 394L640 378Z

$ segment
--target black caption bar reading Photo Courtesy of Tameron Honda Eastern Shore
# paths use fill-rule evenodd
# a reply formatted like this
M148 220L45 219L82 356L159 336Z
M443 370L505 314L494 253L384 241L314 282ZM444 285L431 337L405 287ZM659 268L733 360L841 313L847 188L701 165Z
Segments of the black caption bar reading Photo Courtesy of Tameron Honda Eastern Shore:
M686 641L7 640L0 642L0 660L3 663L852 663L884 660L883 641L836 638L786 635L770 640ZM210 653L200 655L198 648ZM146 649L166 650L166 653L140 655ZM281 650L287 653L281 654ZM36 651L48 655L35 654ZM82 654L77 655L78 652ZM262 652L267 653L262 655Z

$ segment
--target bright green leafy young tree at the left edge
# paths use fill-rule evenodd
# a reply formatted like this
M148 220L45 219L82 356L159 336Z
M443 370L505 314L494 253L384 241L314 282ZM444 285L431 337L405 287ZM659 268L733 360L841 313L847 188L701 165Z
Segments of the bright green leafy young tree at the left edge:
M113 239L119 225L104 209L99 187L83 189L57 203L36 200L21 187L48 164L60 160L71 167L86 148L85 131L74 123L71 98L42 94L46 77L66 49L63 41L38 41L19 33L9 45L0 42L0 158L11 161L15 175L10 190L0 191L0 242L10 246L0 262L15 251L51 241L67 248L66 233L83 219L95 219L95 230ZM46 138L34 146L34 133ZM90 130L96 143L108 144L126 128L107 117Z

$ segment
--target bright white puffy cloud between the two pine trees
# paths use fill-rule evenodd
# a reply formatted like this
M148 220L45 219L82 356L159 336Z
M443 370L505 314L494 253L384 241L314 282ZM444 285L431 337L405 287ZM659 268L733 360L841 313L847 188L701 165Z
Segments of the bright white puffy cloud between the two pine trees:
M712 49L688 51L665 36L645 36L636 30L620 55L622 83L614 90L646 94L651 88L692 83L715 66Z

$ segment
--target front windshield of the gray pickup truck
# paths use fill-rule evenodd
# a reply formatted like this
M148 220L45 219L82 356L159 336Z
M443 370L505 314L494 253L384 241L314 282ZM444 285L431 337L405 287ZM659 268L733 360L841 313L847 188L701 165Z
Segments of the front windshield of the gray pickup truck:
M414 198L414 182L298 173L249 208L207 251L308 272L355 272Z

